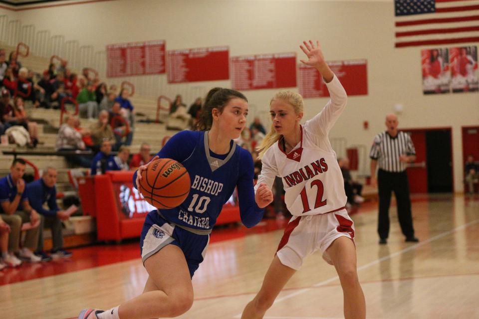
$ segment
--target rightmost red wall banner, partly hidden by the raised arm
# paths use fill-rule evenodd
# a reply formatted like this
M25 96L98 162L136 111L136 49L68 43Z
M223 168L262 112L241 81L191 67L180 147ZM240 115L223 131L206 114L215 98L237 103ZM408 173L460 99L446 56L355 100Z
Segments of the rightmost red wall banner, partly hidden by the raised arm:
M328 62L348 96L368 94L367 60ZM304 64L299 65L299 94L303 98L328 97L329 92L319 72Z

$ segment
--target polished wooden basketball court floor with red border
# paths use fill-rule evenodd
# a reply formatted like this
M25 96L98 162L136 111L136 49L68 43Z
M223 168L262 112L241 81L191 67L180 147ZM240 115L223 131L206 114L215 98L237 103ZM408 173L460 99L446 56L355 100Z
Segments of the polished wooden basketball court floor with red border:
M375 204L352 215L367 318L479 318L479 198L415 196L419 243L404 242L396 208L390 213L387 245L378 245ZM195 303L180 318L239 318L260 287L281 227L269 220L251 230L214 231L193 279ZM1 271L0 317L76 318L82 308L108 309L143 290L147 273L137 241L74 249L73 254L71 260ZM334 268L316 253L305 260L265 318L338 319L343 318L342 304Z

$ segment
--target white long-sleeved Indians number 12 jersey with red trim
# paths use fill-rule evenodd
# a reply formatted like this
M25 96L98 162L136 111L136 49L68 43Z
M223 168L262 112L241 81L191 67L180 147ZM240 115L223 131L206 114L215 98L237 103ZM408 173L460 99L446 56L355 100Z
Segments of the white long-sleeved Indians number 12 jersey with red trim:
M324 214L346 205L343 176L328 135L346 106L347 95L336 76L326 86L331 99L319 114L301 125L299 144L285 154L280 139L261 159L256 185L272 187L274 177L281 177L284 201L296 216Z

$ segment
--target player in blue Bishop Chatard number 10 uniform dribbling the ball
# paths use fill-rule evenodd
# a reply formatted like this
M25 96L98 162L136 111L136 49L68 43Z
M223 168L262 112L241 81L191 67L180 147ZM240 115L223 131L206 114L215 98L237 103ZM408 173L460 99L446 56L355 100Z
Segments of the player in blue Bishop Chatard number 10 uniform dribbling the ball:
M214 88L205 100L198 131L173 136L156 158L181 162L191 178L186 200L173 209L150 212L140 247L149 277L143 294L107 311L83 310L78 319L151 319L178 317L193 304L191 278L205 257L210 233L223 205L238 187L241 221L256 225L272 202L266 184L253 188L251 155L233 139L245 128L248 102L231 89ZM138 187L140 166L133 176Z

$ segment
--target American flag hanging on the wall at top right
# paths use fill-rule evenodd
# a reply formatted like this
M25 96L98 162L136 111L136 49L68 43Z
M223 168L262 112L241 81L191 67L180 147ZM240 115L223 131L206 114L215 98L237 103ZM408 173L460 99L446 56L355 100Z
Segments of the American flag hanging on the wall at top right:
M395 0L396 47L479 42L479 0Z

